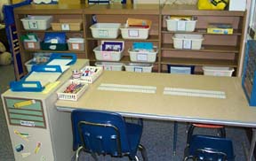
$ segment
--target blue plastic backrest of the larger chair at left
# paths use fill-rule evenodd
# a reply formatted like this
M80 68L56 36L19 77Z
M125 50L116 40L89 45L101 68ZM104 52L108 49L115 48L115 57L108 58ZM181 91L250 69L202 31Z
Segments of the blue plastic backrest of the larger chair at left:
M73 149L83 146L94 154L122 157L129 153L123 117L114 112L75 110L71 113Z

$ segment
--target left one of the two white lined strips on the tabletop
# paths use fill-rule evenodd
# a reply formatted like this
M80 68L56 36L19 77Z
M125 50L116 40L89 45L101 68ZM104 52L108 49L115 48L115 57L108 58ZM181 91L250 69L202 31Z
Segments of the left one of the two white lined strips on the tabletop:
M137 92L155 94L156 87L154 86L137 86L137 85L123 85L123 84L108 84L101 83L98 90L110 90L119 92Z

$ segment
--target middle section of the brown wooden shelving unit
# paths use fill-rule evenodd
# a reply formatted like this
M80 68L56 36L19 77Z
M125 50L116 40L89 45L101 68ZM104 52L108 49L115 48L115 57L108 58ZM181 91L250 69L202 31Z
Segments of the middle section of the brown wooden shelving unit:
M91 64L97 61L93 49L100 45L101 41L124 41L124 57L120 60L122 63L129 63L130 57L128 50L132 48L132 42L152 42L154 46L160 48L160 19L159 19L159 6L153 4L137 4L132 5L94 5L89 9L84 11L85 15L85 33L86 33L86 43L87 43L87 54L88 58L91 60ZM122 16L120 16L122 15ZM92 26L92 16L97 19L99 23L121 23L122 25L126 23L128 18L132 19L148 19L152 21L152 26L149 30L148 39L146 40L136 40L136 39L123 39L119 35L115 40L113 39L96 39L92 37L92 32L90 27ZM158 59L153 67L153 72L158 71Z

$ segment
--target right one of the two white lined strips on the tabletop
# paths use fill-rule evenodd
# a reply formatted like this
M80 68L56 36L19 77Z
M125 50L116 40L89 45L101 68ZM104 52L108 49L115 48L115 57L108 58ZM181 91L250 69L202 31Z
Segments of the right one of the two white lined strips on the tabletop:
M199 96L211 98L226 98L223 91L215 90L201 90L201 89L188 89L188 88L164 88L164 95L172 96Z

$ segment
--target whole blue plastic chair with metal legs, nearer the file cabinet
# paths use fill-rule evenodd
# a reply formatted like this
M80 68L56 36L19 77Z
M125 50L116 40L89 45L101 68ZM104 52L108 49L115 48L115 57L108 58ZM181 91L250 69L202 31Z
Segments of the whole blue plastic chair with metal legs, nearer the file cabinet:
M76 160L82 149L95 160L97 155L139 160L136 154L140 149L143 160L148 160L146 149L140 144L142 119L137 124L129 123L116 112L92 110L74 110L71 119Z

